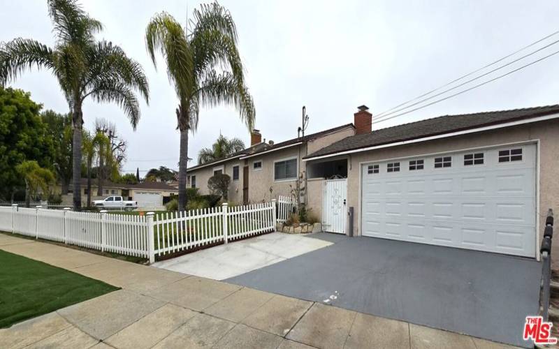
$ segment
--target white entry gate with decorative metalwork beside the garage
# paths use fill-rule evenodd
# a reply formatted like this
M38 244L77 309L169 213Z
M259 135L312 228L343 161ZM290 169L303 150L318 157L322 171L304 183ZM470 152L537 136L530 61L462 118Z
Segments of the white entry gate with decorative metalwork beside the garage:
M347 179L324 181L322 221L325 232L345 234L347 221Z

